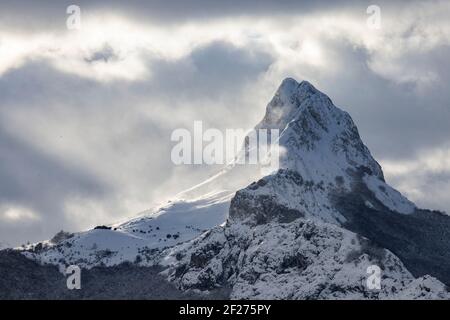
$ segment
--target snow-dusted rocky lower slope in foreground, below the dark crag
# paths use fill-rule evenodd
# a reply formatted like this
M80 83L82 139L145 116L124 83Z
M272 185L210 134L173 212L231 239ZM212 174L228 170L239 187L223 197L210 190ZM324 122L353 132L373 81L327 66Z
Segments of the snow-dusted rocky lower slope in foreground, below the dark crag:
M232 299L448 299L429 276L414 279L390 251L332 224L219 226L168 251L168 278L182 290L230 288ZM381 268L381 289L367 268Z

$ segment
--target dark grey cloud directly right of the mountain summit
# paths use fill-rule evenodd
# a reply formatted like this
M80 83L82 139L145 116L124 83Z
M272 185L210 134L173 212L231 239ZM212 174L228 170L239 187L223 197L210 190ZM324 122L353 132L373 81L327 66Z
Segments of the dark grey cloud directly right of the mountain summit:
M368 66L370 55L363 49L338 41L329 41L327 48L335 52L341 69L337 74L312 76L352 115L377 158L411 159L449 141L450 65L444 60L450 48L405 58L403 63L410 68L438 75L438 81L422 89L414 82L397 83L374 73Z

